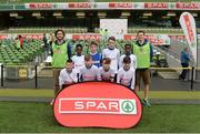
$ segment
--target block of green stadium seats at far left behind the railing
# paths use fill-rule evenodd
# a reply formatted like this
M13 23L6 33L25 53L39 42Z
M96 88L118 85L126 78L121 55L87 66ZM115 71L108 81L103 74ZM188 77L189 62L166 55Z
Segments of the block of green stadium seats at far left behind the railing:
M43 50L40 44L41 41L39 40L33 40L30 43L24 42L23 49L18 51L13 41L2 40L0 42L0 63L9 65L27 64L42 53Z

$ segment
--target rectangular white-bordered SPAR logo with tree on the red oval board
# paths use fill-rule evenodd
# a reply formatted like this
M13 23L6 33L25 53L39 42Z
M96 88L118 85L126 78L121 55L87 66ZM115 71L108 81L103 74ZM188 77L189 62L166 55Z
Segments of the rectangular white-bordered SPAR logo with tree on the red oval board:
M59 99L59 113L137 114L133 99Z

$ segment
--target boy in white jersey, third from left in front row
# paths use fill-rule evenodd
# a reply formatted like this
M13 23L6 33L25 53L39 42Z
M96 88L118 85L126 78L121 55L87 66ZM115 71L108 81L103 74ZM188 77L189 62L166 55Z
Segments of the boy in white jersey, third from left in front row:
M110 68L111 60L104 58L102 60L102 66L99 69L98 81L114 82L114 70Z

